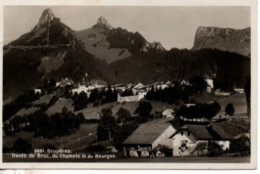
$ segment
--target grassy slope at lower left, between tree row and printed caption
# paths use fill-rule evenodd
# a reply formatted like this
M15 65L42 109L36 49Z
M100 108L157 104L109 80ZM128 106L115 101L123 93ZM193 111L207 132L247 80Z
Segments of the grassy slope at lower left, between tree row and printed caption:
M46 145L53 145L56 148L70 149L73 152L82 152L86 146L96 140L96 130L98 124L81 124L80 128L69 135L46 139L43 137L33 137L33 133L19 132L12 136L3 138L3 147L12 148L18 138L27 140L32 144L32 148L43 148Z

